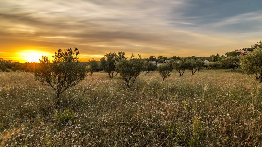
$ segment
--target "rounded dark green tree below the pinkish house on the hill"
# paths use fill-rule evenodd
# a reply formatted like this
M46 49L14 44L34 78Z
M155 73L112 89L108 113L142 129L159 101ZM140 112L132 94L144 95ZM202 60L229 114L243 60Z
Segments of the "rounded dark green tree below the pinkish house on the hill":
M229 56L221 61L220 68L235 70L239 65L239 56Z

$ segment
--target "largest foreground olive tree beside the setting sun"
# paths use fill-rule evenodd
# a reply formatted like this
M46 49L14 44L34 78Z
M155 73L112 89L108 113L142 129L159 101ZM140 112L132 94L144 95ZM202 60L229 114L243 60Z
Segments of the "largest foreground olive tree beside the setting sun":
M47 57L42 56L39 66L35 69L35 80L56 91L57 106L60 105L61 100L59 95L85 78L86 68L78 61L79 52L76 52L77 50L75 48L73 52L70 48L62 52L59 49L53 56L53 63L50 63Z

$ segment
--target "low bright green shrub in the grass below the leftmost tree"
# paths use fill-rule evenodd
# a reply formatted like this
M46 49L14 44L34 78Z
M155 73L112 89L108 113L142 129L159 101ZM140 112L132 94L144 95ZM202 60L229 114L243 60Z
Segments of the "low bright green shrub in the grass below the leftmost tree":
M68 124L69 122L73 122L74 118L75 118L74 113L70 112L69 109L65 109L62 114L56 111L56 120L58 125L61 124L65 125Z

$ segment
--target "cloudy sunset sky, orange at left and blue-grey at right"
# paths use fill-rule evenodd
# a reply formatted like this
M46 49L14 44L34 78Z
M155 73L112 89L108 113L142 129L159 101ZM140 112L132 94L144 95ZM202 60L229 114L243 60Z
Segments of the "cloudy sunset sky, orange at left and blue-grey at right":
M0 58L225 55L262 40L261 0L0 0Z

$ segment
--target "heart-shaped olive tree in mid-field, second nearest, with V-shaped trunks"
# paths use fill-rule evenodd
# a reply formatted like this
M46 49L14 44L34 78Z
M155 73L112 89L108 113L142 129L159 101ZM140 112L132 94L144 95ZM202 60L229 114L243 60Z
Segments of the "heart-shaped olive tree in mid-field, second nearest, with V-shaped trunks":
M138 75L143 72L144 61L141 56L131 55L130 60L120 60L116 63L116 71L120 74L121 80L128 88L131 88Z

